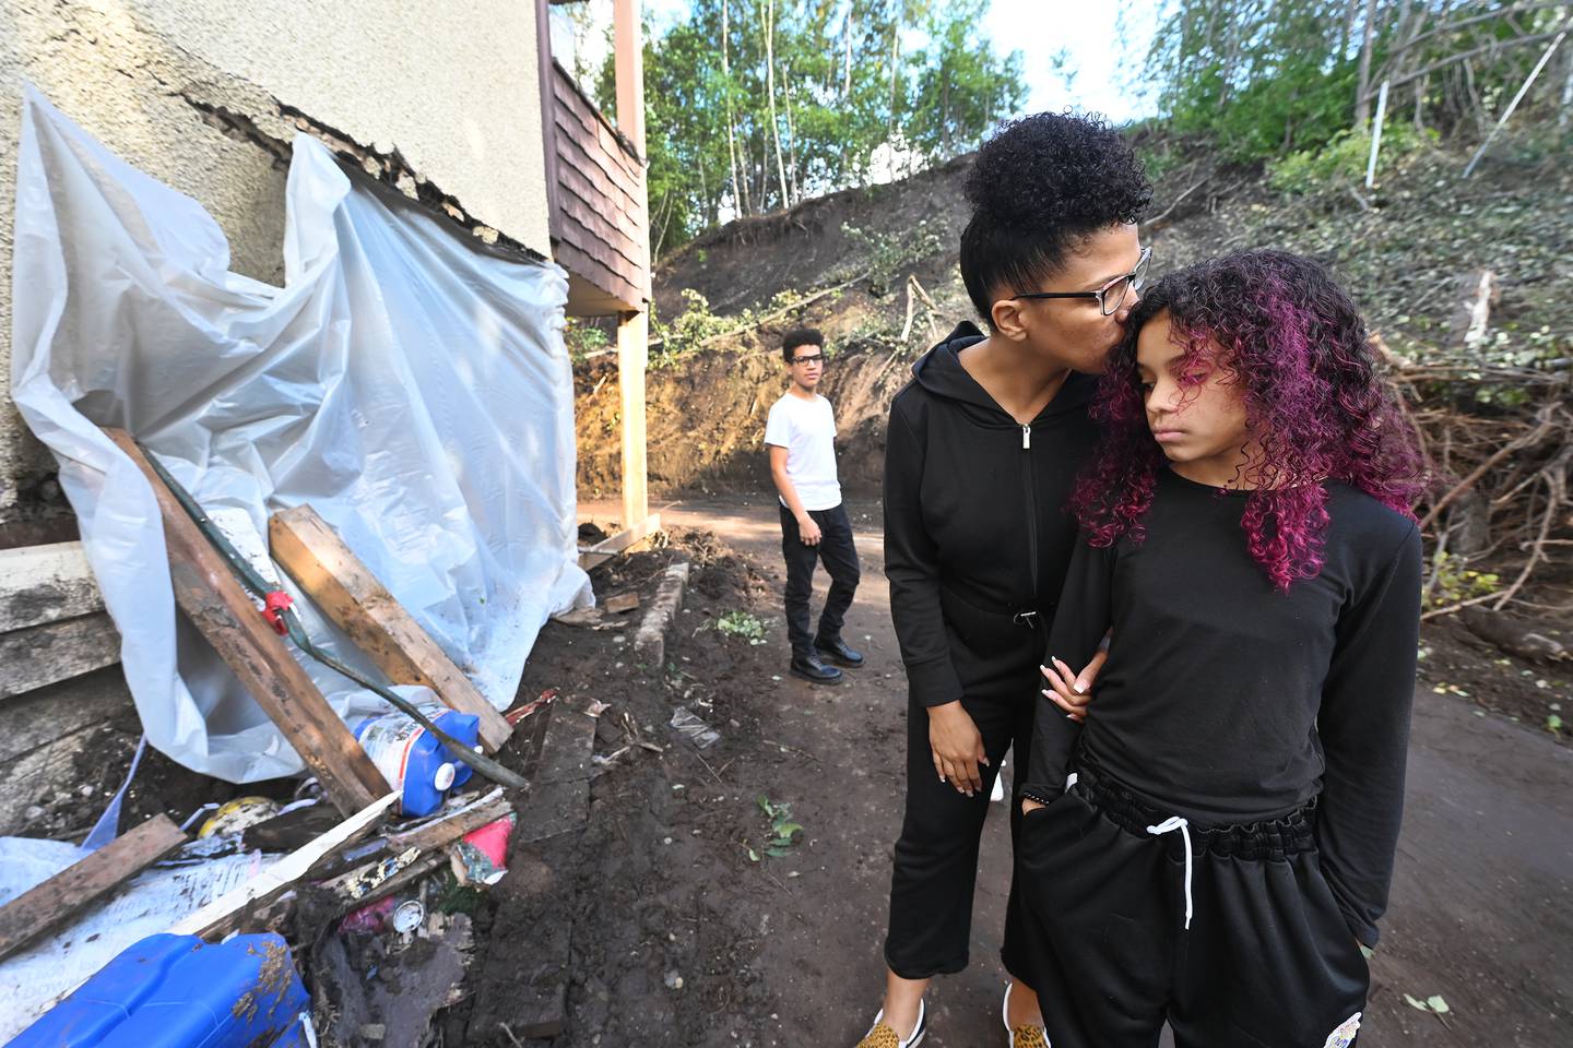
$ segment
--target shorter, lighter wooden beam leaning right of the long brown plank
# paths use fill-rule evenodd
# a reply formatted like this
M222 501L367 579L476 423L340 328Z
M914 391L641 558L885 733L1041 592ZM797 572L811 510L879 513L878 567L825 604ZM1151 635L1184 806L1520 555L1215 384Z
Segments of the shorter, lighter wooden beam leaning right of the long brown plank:
M267 540L278 566L389 680L425 685L450 709L480 716L488 753L508 742L513 727L502 713L315 509L294 506L274 514Z

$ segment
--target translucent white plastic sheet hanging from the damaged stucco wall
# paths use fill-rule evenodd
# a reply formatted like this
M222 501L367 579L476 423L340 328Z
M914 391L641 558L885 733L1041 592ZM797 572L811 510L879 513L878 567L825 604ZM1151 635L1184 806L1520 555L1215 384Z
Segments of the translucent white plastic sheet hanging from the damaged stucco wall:
M178 617L153 490L101 424L242 550L310 503L499 709L547 616L590 602L563 272L351 179L305 135L286 209L285 286L233 273L201 206L27 90L11 393L60 460L149 742L236 782L302 764ZM374 672L296 599L324 647ZM382 712L302 663L340 715Z

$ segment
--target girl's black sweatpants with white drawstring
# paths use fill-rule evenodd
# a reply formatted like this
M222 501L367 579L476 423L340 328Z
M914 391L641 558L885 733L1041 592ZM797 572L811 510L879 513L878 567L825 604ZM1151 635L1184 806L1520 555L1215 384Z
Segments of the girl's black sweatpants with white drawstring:
M1365 957L1321 874L1313 804L1186 826L1078 768L1022 822L1016 885L1054 1048L1346 1048ZM1167 831L1164 831L1167 826ZM1155 833L1162 831L1162 833Z

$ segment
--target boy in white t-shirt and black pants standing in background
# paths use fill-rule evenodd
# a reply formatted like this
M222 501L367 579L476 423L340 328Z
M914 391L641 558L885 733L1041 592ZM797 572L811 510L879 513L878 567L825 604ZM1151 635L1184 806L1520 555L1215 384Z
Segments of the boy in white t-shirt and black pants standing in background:
M857 592L860 572L853 525L846 520L835 476L835 413L831 402L815 393L824 376L824 336L812 327L786 332L782 357L791 388L771 405L764 445L782 503L791 672L815 683L837 683L842 671L826 660L856 668L864 665L864 657L842 641L842 621ZM820 613L820 628L810 632L815 561L824 561L831 573L831 594Z

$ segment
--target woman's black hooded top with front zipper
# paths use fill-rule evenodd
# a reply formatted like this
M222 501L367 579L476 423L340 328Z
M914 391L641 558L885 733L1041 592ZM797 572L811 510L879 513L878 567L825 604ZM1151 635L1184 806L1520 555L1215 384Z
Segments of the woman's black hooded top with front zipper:
M920 705L993 683L964 679L980 663L956 658L952 636L977 650L1030 643L1038 652L1029 661L1041 652L1076 545L1071 484L1095 440L1095 379L1071 374L1021 426L956 358L982 339L960 325L890 404L886 577L908 691ZM1013 625L1022 611L1037 624Z

